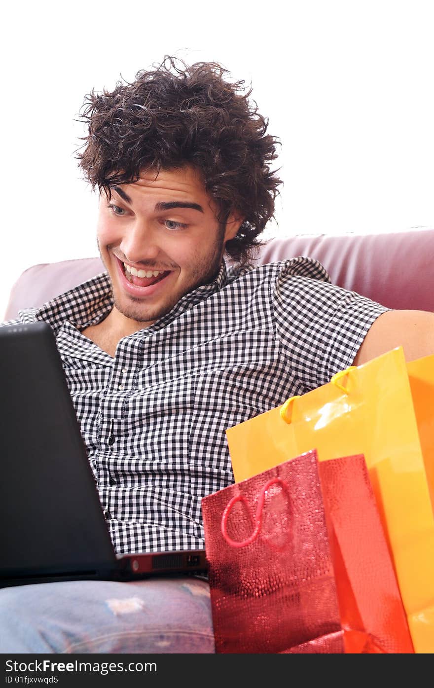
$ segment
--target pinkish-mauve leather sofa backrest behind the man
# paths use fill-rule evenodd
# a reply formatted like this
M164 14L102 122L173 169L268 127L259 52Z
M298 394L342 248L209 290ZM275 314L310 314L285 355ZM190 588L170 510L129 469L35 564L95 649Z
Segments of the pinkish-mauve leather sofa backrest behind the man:
M334 284L354 290L389 308L434 311L434 228L370 235L296 235L272 239L258 264L305 255L329 271ZM40 306L98 272L99 258L32 266L10 294L6 318L20 308Z

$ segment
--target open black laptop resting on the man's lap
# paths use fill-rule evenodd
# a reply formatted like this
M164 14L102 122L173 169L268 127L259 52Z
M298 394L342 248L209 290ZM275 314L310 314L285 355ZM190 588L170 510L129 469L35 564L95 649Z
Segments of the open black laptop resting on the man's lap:
M50 325L0 327L0 588L205 576L205 550L113 550Z

